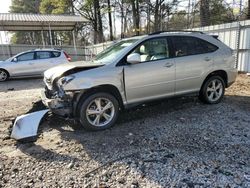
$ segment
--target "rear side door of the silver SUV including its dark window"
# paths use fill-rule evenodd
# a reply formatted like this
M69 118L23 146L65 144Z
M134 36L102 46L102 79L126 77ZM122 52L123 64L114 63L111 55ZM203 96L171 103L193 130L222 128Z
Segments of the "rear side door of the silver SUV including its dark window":
M213 68L217 46L193 36L170 37L176 63L176 95L200 90L204 74Z

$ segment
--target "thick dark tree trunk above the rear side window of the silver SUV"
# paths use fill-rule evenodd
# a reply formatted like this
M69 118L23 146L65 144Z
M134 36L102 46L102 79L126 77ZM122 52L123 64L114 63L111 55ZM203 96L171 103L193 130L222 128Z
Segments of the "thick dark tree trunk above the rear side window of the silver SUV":
M201 26L208 26L210 24L209 2L210 0L200 0Z

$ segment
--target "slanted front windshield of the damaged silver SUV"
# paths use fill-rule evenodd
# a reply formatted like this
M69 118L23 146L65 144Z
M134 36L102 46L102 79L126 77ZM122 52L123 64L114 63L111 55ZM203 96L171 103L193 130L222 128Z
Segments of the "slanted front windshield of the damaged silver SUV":
M101 53L99 53L96 56L95 61L102 62L102 63L111 63L111 61L115 57L117 57L117 55L119 55L123 51L123 49L132 45L137 40L138 39L122 40L122 41L108 47L107 49L105 49Z

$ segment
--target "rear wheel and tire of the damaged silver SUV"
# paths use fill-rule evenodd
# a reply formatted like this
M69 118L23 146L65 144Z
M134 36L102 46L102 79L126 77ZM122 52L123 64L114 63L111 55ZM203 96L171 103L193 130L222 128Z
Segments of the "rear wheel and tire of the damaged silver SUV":
M220 76L212 76L201 87L199 98L207 104L219 103L225 93L225 82Z

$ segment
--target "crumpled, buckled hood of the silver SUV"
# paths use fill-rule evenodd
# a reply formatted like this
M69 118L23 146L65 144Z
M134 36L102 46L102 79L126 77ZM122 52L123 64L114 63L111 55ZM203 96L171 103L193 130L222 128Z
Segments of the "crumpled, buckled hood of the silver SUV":
M46 82L52 83L58 77L66 76L84 70L93 69L100 66L103 66L103 64L86 62L86 61L65 63L46 70L44 72L44 79L46 79Z

